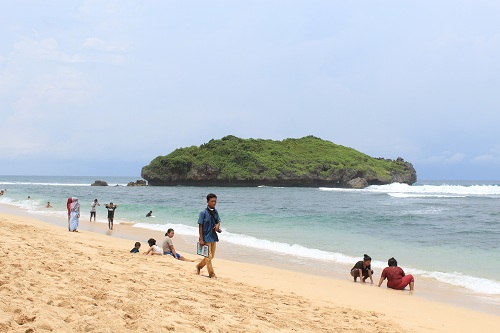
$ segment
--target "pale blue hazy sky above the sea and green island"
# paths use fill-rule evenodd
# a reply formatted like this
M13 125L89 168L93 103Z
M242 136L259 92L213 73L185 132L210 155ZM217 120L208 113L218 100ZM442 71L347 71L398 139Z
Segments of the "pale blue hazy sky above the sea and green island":
M0 175L314 135L500 180L500 2L0 0Z

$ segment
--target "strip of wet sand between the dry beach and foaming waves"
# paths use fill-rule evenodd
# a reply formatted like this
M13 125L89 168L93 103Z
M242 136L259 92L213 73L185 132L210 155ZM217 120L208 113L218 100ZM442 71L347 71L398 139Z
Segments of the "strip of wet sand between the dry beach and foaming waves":
M6 204L0 204L0 214L2 213L26 216L28 218L34 218L36 220L61 227L64 227L67 223L67 220L63 217L34 214L31 212L27 212L20 207ZM164 234L167 229L169 227L175 229L174 224L167 224L163 226L165 229L164 231L151 230L136 227L134 223L120 223L115 219L114 230L108 230L107 223L89 222L87 218L88 215L85 213L80 218L80 230L111 236L113 238L129 240L130 248L133 247L133 244L136 241L141 242L142 249L146 248L146 241L149 238L156 239L157 244L160 245L165 238ZM316 261L297 260L294 262L290 262L289 258L285 255L273 254L273 256L269 256L269 253L264 250L248 249L244 246L236 246L234 244L225 243L223 236L224 234L221 235L221 241L218 245L216 256L217 259L224 259L227 261L239 262L243 264L257 264L259 266L279 268L286 271L291 271L292 273L304 273L313 276L331 278L334 280L352 283L352 277L349 275L349 271L351 268L350 266L338 263L324 263L324 266L328 266L328 268L325 269L324 266L317 267ZM196 242L197 237L179 233L176 233L176 236L174 238L174 244L177 252L190 259L199 258L196 256L195 251ZM408 273L411 273L411 271L408 271ZM360 288L376 287L379 277L380 271L376 270L373 276L374 285L370 285L369 283L367 283L366 285L359 285L359 283L353 284L358 285L358 287ZM386 281L384 281L382 287L384 287L385 284ZM500 316L500 310L498 307L499 298L497 296L477 295L472 292L465 292L463 288L448 285L421 276L418 276L418 278L416 279L416 292L413 297Z

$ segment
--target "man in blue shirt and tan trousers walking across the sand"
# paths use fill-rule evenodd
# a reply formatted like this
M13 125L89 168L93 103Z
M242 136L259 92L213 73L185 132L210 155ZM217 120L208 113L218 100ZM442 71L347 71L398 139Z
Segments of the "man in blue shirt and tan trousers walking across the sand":
M207 265L208 276L210 278L216 279L214 268L212 266L212 259L215 256L216 244L219 241L217 232L220 230L220 218L219 213L215 209L217 204L217 196L213 193L207 195L207 208L200 212L198 217L198 230L200 234L200 245L208 246L208 257L203 258L202 261L196 265L196 271L198 275L205 265Z

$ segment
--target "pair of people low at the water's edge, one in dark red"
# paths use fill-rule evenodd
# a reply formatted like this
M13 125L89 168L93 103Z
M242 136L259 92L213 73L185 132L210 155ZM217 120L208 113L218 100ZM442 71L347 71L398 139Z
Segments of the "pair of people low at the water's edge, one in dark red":
M351 268L351 276L354 278L354 282L360 278L361 283L365 283L367 279L370 279L371 284L373 284L373 270L371 268L372 258L365 254L363 260L358 261ZM413 275L406 275L401 267L398 266L398 262L394 258L390 258L387 261L387 266L382 271L380 275L380 280L378 286L380 287L385 279L387 279L387 288L403 290L408 285L410 286L410 291L415 288L415 279Z

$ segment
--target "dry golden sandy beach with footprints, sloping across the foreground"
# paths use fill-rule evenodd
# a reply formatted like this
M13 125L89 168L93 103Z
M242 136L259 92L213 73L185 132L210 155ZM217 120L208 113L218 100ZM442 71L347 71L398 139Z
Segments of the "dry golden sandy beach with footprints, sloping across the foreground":
M0 332L497 332L500 325L499 316L408 292L222 259L212 280L196 275L193 263L131 254L128 239L69 233L24 216L0 214L0 234Z

